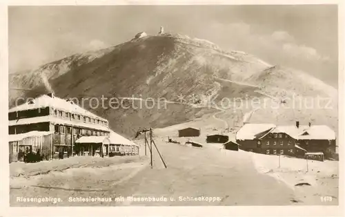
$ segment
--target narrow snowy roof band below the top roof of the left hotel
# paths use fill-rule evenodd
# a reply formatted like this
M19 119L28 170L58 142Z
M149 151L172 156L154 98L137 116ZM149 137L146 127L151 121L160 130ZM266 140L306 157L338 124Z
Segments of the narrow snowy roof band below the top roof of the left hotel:
M19 120L10 120L8 126L15 126L15 125L22 125L22 124L34 124L39 122L50 122L54 124L69 124L72 126L81 126L88 129L98 129L100 131L109 131L108 126L101 125L101 124L91 124L91 123L84 123L81 120L70 120L64 119L60 117L55 117L54 115L48 116L41 116L41 117L30 117L30 118L22 118Z

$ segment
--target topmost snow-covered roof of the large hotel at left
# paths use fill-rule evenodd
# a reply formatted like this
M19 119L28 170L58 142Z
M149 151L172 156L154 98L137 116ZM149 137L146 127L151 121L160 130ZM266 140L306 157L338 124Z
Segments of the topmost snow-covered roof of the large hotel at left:
M77 113L80 115L86 115L89 117L95 117L100 120L106 120L103 117L99 117L86 109L81 108L81 106L75 104L72 101L63 100L59 97L55 97L54 95L41 95L35 98L32 101L26 102L25 104L21 104L20 106L16 106L12 109L9 109L8 112L14 111L26 111L30 109L39 109L39 108L46 108L52 107L54 109L61 109L62 111L68 111L70 113Z

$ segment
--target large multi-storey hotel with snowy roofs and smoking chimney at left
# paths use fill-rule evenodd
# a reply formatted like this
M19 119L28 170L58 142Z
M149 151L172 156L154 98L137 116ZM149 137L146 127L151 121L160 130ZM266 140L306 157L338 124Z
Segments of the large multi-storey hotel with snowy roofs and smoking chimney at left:
M139 146L112 131L108 120L52 93L10 109L8 120L10 162L28 152L46 160L139 153Z

